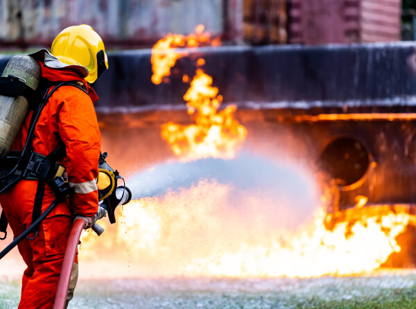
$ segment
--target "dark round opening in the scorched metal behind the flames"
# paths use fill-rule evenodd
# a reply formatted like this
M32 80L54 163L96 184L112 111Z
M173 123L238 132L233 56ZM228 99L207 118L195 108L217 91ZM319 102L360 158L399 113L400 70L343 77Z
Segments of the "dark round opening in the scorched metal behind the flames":
M363 142L354 137L338 137L324 147L320 169L341 187L353 185L363 178L370 165L370 153Z

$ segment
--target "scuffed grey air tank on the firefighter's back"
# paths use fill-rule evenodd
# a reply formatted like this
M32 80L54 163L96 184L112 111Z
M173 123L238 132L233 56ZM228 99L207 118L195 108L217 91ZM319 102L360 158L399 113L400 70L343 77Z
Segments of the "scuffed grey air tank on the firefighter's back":
M39 85L40 76L39 63L26 55L12 57L1 75L1 77L19 78L33 90ZM28 107L28 100L23 96L13 98L0 95L0 159L7 156L15 142Z

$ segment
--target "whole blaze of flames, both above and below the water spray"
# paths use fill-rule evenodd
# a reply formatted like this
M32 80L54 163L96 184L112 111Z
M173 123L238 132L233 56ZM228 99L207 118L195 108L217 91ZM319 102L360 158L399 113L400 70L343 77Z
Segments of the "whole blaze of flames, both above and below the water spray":
M196 35L171 35L159 41L155 45L159 51L153 55L153 82L162 83L177 58L184 56L175 47L201 42L209 42L201 26ZM234 158L247 131L233 118L234 107L218 112L222 98L211 86L212 78L200 69L203 60L198 62L184 95L189 114L196 113L196 124L164 124L162 137L182 161ZM189 81L188 76L182 79ZM293 205L276 205L287 211L270 212L264 207L270 203L267 196L238 193L235 207L232 184L202 179L190 187L137 199L119 212L116 235L105 246L128 250L130 262L151 269L141 272L144 276L346 276L379 268L391 253L400 251L397 235L415 223L405 213L385 212L363 215L354 223L338 222L329 229L325 224L329 216L318 207L308 222L285 225L297 215L289 211L296 210ZM356 203L363 212L367 197L358 196ZM93 257L89 253L96 241L91 233L83 236L86 249L81 250L81 258Z

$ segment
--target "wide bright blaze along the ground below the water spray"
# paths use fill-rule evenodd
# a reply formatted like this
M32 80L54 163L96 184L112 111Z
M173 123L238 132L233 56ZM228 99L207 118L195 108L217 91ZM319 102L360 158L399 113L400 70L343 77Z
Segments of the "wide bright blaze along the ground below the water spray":
M119 214L112 241L119 251L128 249L130 262L153 274L158 269L156 276L347 276L379 268L400 251L395 237L415 224L410 215L386 212L329 230L319 208L309 223L280 229L278 217L270 220L272 214L261 209L265 198L241 193L236 208L230 205L234 195L230 185L200 181L132 201Z

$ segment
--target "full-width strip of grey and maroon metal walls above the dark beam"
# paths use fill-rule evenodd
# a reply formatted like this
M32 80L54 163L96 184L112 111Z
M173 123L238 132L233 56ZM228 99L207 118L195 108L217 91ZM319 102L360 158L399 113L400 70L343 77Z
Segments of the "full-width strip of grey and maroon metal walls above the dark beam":
M225 44L415 40L413 0L0 0L2 47L49 46L89 24L112 48L150 47L198 24Z

